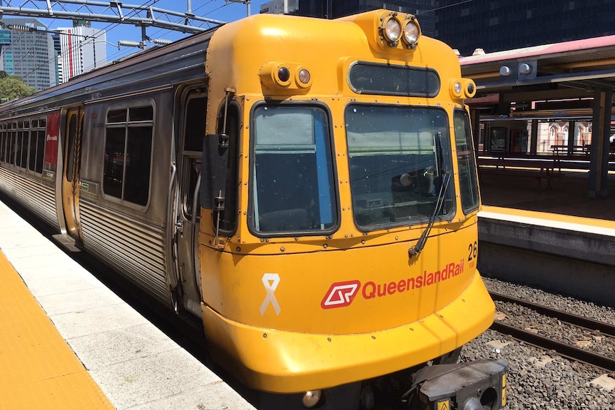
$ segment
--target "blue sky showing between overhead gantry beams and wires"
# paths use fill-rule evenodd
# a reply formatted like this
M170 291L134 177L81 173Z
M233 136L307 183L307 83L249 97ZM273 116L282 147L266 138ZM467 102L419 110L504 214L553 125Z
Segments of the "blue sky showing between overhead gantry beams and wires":
M250 1L251 14L258 14L260 11L260 5L268 2L268 0L252 0ZM4 1L5 6L16 6L15 1ZM52 2L53 3L53 2ZM188 2L186 0L130 0L124 1L124 4L145 4L157 7L158 9L173 10L181 13L185 13L187 10ZM190 1L193 14L196 16L206 17L208 19L215 19L221 21L235 21L243 19L247 16L247 6L245 4L230 3L225 0L192 0ZM71 6L71 10L75 10L75 6ZM81 10L81 12L86 12ZM95 11L100 13L100 9ZM106 14L109 14L107 11ZM7 16L8 17L8 16ZM160 18L160 17L157 17ZM63 19L40 19L50 30L57 29L59 27L71 26L70 20ZM171 21L178 22L179 17L173 17ZM215 25L213 25L215 26ZM92 27L94 29L105 29L106 41L117 45L118 40L129 41L141 41L141 28L133 26L131 24L109 24L98 23L93 21ZM146 30L146 34L152 39L168 39L177 40L182 39L188 34L181 32L174 32L165 29L158 29L156 27L150 27ZM148 44L151 46L151 43ZM107 61L112 61L116 58L126 56L127 54L138 51L138 48L122 47L119 51L117 46L107 45Z

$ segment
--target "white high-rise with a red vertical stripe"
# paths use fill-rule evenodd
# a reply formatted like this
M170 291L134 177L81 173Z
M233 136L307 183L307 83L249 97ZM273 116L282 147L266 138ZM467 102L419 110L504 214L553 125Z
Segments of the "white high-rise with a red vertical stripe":
M73 27L59 28L58 31L62 82L107 62L105 31L92 29L88 21L73 21Z

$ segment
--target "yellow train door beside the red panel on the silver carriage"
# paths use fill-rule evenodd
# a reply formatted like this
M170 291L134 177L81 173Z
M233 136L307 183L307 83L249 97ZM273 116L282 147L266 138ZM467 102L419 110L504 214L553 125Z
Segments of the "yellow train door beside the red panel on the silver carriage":
M81 138L83 135L83 107L68 108L64 123L62 209L66 233L79 242L79 170L81 167Z

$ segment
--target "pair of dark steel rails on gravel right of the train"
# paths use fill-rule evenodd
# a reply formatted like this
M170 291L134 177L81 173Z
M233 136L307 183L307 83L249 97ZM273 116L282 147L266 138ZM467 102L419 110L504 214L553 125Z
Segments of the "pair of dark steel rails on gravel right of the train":
M528 309L532 309L544 316L558 319L560 322L565 322L572 326L580 327L591 332L597 331L600 334L604 334L609 337L615 337L615 326L611 324L588 319L576 314L570 314L568 312L562 312L558 309L552 309L540 304L528 302L526 300L499 294L497 292L490 292L490 294L494 301L518 304L520 306L527 307ZM581 349L580 347L573 346L566 342L560 342L559 340L545 337L540 334L530 332L526 329L520 329L519 327L506 324L500 320L494 320L494 324L492 324L491 329L502 334L508 334L515 339L519 339L547 351L553 350L561 356L567 357L576 362L591 364L594 367L599 367L609 372L615 371L615 359L591 352L588 349Z

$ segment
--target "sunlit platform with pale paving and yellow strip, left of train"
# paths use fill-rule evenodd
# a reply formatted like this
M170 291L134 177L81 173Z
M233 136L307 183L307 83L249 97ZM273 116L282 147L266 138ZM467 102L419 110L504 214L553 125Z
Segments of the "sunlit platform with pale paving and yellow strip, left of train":
M253 409L0 202L0 409Z

